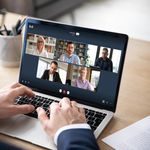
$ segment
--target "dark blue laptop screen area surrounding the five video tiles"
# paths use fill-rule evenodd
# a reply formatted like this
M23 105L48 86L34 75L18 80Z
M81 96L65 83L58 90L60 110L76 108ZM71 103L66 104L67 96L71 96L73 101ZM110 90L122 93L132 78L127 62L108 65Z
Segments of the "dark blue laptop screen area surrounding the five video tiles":
M80 36L75 36L73 34L75 32L79 32ZM118 73L101 71L96 92L86 91L56 82L48 82L47 80L40 80L36 78L39 58L25 53L27 33L119 49L122 51L119 71ZM19 82L46 94L58 97L68 96L84 104L115 111L127 40L128 37L124 34L28 19L24 34ZM70 91L70 94L60 94L59 89Z

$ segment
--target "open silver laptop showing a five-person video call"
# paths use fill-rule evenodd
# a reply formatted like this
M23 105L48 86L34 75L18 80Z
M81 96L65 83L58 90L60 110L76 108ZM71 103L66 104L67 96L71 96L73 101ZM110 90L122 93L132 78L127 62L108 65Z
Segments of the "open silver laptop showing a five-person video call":
M69 97L85 108L95 137L113 117L128 36L62 23L27 18L19 83L35 97L18 97L16 104L43 107ZM4 119L0 132L33 144L56 149L43 131L36 111Z

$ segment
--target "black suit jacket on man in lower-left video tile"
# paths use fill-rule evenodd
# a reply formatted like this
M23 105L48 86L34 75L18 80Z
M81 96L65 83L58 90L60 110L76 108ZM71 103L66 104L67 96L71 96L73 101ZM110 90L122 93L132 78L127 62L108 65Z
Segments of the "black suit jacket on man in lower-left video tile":
M44 71L41 79L49 80L49 70ZM62 83L58 72L55 72L55 74L53 75L53 82Z

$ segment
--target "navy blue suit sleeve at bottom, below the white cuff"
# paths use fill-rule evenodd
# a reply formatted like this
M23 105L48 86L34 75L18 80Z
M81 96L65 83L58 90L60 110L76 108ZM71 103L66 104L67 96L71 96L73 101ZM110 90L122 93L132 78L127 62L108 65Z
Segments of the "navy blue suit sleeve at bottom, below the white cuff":
M91 129L69 129L60 133L58 150L99 150Z

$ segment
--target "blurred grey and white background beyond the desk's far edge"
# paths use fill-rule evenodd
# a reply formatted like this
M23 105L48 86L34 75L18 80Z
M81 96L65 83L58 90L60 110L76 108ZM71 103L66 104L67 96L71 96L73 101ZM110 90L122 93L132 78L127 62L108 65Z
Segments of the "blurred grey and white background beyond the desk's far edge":
M0 9L150 41L150 0L0 0Z

